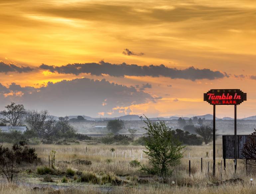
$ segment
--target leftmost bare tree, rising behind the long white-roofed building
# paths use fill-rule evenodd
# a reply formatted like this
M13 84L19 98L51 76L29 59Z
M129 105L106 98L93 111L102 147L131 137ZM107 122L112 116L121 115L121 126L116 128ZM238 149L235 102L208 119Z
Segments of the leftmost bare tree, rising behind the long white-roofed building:
M26 113L24 105L11 102L5 108L6 110L0 112L3 115L3 122L12 126L19 126Z

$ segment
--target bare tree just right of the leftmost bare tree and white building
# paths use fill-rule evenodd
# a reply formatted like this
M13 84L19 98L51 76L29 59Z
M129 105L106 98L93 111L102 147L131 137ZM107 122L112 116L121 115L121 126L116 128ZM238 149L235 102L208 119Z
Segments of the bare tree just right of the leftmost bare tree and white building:
M44 124L48 117L49 113L47 110L41 110L40 112L37 110L32 110L28 112L26 122L28 123L30 129L41 137L45 133Z

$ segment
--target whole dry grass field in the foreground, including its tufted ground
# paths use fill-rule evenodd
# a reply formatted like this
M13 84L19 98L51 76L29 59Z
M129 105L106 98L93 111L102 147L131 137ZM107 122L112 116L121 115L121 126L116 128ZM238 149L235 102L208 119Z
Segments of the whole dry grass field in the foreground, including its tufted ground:
M11 146L4 144L4 146ZM223 170L221 138L216 141L216 175L212 177L212 143L202 146L187 146L184 158L180 165L173 167L170 178L163 182L157 176L143 174L139 167L130 165L130 161L137 159L147 164L148 157L142 151L144 146L119 146L92 144L85 141L72 145L35 145L36 153L42 159L41 166L48 166L48 157L52 150L56 151L56 170L59 174L51 175L53 182L44 181L45 175L37 173L37 165L20 167L18 178L11 185L1 181L0 193L253 193L255 173L252 167L246 173L243 161L238 161L237 173L234 173L232 160L227 160L226 170ZM87 152L86 152L87 147ZM114 148L114 152L111 152ZM206 156L208 152L208 157ZM203 171L200 161L203 158ZM75 160L91 161L91 165L78 164ZM189 160L191 160L191 176L189 176ZM209 173L208 173L209 162ZM122 184L110 184L99 181L92 183L77 183L76 175L66 176L67 181L62 182L67 169L78 172L94 173L102 178L104 174L111 173L122 180ZM28 172L29 171L29 172ZM79 177L79 175L78 175ZM232 182L228 179L240 178L242 181ZM253 178L253 181L250 181ZM173 182L174 181L174 182ZM224 182L223 182L224 181ZM37 189L33 189L37 187ZM58 190L56 190L58 189Z

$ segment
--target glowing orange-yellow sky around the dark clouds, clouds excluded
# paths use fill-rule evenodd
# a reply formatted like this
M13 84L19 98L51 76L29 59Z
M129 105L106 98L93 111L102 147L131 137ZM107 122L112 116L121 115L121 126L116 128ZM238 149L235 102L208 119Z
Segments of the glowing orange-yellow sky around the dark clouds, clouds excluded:
M131 103L124 109L129 108L129 114L165 117L212 114L212 106L202 101L204 92L239 88L247 92L247 101L239 105L238 117L255 115L256 80L250 77L256 75L255 1L1 0L0 6L0 60L34 68L27 73L1 73L0 83L6 87L16 83L39 88L49 81L76 78L104 78L128 87L148 83L152 88L144 92L162 98ZM124 55L125 48L145 54ZM101 60L141 66L164 64L177 69L193 66L226 72L229 77L192 81L161 76L59 74L38 69L41 64L61 66ZM113 114L116 107L112 108L84 114L127 113ZM232 111L231 106L218 107L217 117L233 117ZM50 113L75 114L55 109Z

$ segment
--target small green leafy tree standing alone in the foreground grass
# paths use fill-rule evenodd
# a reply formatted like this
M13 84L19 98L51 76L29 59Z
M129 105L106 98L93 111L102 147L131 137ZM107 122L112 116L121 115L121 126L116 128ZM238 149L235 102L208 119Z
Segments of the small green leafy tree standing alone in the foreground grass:
M144 122L147 127L143 128L148 135L148 138L145 138L145 147L148 151L144 153L150 157L149 162L160 169L161 176L165 177L168 167L180 163L185 146L181 146L181 142L174 138L171 128L166 126L164 121L151 122L147 117L146 119Z

